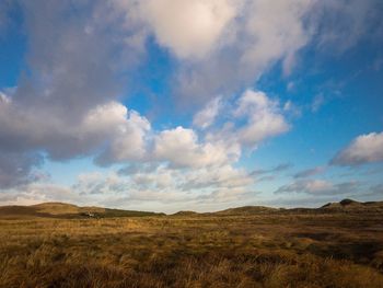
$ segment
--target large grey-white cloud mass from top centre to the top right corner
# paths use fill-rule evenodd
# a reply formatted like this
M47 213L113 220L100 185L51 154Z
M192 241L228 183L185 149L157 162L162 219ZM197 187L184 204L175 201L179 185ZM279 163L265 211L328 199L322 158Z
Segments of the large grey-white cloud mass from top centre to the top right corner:
M172 1L149 1L152 2L158 7L160 2ZM217 12L211 22L200 21L199 25L216 23L213 26L220 28L211 30L209 25L206 33L199 33L195 37L189 30L198 28L199 25L196 26L195 23L200 15L210 19L209 13L197 13L197 9L194 9L197 0L187 1L190 7L187 11L184 10L185 1L176 2L176 9L169 9L166 13L160 13L162 9L159 9L154 14L144 13L143 18L152 23L149 31L158 38L161 39L159 35L166 36L166 41L159 42L160 45L170 48L179 59L173 81L176 83L174 94L183 103L200 104L217 94L237 92L254 83L255 79L277 64L281 65L282 72L287 76L293 70L299 51L304 47L313 44L317 49L328 47L332 51L345 51L364 35L373 34L382 26L380 15L375 12L380 10L376 0L219 1L217 11L222 9L230 11L228 15L234 15L220 18ZM218 3L201 2L206 11L214 5L212 2ZM163 25L178 18L188 25L177 34L179 39L172 35L174 31L183 28L183 25ZM193 21L188 23L184 19ZM162 25L153 25L156 22ZM181 43L188 43L187 49L181 49ZM205 57L194 57L195 55Z

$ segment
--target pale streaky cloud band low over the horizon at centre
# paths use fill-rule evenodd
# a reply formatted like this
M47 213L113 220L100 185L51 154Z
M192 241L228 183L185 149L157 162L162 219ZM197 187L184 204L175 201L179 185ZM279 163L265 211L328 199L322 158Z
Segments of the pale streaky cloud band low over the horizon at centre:
M252 192L254 180L231 165L216 169L173 169L165 164L129 175L98 172L81 174L72 189L84 197L120 198L124 201L227 201Z

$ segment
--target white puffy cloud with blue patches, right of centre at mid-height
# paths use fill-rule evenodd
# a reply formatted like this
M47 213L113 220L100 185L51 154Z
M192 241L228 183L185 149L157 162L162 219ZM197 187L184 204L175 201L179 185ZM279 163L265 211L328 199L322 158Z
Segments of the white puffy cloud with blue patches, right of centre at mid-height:
M197 115L209 111L211 103L217 103L217 99ZM205 129L206 141L223 145L227 153L237 157L243 149L252 150L263 140L290 129L279 102L271 100L262 91L254 90L246 90L234 103L225 103L224 113L216 115L214 122L214 127L207 126Z

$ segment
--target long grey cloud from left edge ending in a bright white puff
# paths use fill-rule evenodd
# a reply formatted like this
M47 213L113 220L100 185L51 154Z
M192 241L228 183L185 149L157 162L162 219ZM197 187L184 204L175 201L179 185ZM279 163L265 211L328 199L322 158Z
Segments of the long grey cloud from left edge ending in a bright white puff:
M76 123L51 111L22 110L12 101L0 103L0 148L23 151L38 149L55 160L96 152L107 143L103 160L136 159L142 154L147 119L117 103L98 105ZM49 119L49 120L46 120ZM131 147L125 149L124 145ZM124 150L124 153L123 153Z

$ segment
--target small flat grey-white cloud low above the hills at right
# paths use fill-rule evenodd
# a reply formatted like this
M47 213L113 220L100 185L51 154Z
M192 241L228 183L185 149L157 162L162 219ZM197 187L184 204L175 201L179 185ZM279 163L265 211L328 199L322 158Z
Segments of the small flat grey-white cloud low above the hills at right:
M334 184L325 180L298 180L283 185L275 191L281 193L304 193L316 196L355 193L359 187L358 182L344 182Z

